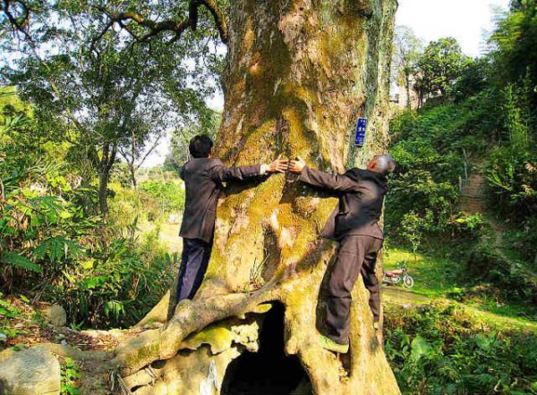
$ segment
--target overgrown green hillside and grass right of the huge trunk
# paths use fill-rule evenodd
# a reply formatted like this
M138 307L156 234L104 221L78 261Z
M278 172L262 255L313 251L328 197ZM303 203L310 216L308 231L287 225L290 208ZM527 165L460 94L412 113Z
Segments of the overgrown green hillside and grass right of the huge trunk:
M537 393L536 32L513 2L487 55L392 120L385 265L416 286L388 293L386 338L405 393Z

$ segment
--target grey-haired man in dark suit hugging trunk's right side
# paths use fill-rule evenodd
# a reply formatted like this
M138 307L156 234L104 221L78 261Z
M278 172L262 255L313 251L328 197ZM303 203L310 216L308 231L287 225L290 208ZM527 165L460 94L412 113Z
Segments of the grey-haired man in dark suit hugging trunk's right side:
M375 265L382 248L383 233L378 221L388 192L386 174L394 169L390 155L376 155L367 170L354 168L343 175L311 169L300 158L289 164L291 172L300 173L300 181L335 192L339 198L322 231L323 237L339 241L326 289L328 332L327 336L321 335L325 349L348 351L351 291L360 273L370 291L369 304L375 328L379 326L379 281L375 276Z

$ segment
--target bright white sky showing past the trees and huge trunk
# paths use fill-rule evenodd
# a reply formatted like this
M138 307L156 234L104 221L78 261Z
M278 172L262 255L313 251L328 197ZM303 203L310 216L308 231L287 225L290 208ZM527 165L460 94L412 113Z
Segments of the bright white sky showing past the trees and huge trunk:
M398 0L396 25L413 29L427 44L439 38L453 37L463 53L472 57L485 50L484 37L493 28L495 11L506 11L509 0ZM217 111L223 107L221 96L208 100ZM168 151L168 141L149 155L144 166L162 164Z

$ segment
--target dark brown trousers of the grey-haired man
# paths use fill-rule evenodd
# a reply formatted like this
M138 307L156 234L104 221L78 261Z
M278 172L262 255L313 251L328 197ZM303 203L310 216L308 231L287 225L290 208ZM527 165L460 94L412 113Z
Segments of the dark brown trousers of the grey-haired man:
M360 273L370 292L369 305L373 319L379 321L380 290L375 265L380 248L382 240L372 236L347 236L340 241L325 288L327 336L339 344L349 342L351 291Z

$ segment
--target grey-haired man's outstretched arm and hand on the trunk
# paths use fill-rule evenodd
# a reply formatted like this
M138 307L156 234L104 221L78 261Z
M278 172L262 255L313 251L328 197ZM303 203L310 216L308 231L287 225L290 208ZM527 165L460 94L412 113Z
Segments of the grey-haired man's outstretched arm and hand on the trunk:
M298 178L314 187L330 189L336 192L356 192L359 186L356 181L351 180L345 175L333 175L328 172L320 172L306 166L302 158L297 158L289 163L289 171L300 174Z

